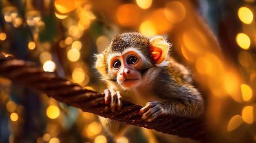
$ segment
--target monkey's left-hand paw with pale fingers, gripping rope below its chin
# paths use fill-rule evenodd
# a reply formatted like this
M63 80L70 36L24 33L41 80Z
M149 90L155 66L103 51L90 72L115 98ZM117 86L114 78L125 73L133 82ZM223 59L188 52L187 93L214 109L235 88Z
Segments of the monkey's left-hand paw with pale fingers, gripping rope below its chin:
M105 103L109 104L110 103L110 107L111 107L111 111L115 112L115 110L120 110L121 106L122 106L122 102L121 102L121 94L119 91L116 91L114 88L109 88L109 89L105 89L104 90L104 94L105 94Z

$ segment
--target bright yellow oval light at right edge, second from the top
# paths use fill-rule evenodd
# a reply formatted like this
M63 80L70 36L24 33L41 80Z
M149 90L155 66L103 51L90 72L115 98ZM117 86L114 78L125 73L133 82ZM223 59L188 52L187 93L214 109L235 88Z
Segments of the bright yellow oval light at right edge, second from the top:
M236 35L236 43L241 48L247 50L251 45L251 40L245 33L239 33Z

